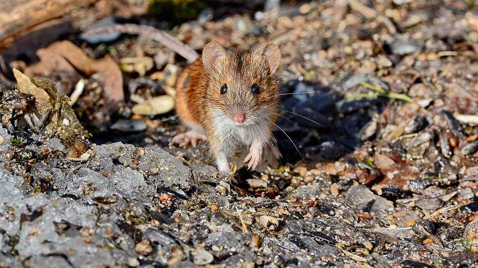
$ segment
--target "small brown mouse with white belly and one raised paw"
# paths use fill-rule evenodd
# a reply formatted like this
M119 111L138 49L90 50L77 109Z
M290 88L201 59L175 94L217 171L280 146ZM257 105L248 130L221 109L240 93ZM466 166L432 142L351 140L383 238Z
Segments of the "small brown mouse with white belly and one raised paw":
M272 129L279 113L281 54L273 43L232 52L213 41L176 83L176 110L189 131L173 138L180 146L207 140L221 176L230 173L227 157L248 146L244 162L256 168L264 149L279 157Z

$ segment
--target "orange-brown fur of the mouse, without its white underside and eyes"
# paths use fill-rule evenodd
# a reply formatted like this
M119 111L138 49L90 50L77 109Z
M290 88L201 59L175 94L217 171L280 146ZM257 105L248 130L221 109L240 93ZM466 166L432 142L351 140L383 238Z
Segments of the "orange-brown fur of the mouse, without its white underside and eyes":
M279 110L279 97L274 96L279 94L278 79L273 72L280 52L277 46L273 45L276 50L270 47L266 44L252 51L234 53L212 42L204 48L203 56L180 75L176 83L177 114L189 126L202 126L213 151L221 140L214 137L214 109L230 115L234 107L240 106L247 120L261 115L257 114L259 107L268 107L273 111L268 125L272 130ZM272 57L270 53L279 57ZM227 93L220 94L224 84L228 87ZM258 95L251 92L253 84L260 87ZM264 137L264 141L270 139Z

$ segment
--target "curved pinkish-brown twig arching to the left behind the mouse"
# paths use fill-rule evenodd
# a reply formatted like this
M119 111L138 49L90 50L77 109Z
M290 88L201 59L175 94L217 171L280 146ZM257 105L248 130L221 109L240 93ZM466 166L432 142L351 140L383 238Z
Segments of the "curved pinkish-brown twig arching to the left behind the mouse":
M172 37L165 31L157 30L156 28L151 26L136 24L113 24L110 26L89 30L82 34L82 38L112 32L119 32L130 35L143 35L149 37L150 39L162 43L169 49L183 56L189 62L194 62L199 58L199 54L194 49L185 45L178 39Z

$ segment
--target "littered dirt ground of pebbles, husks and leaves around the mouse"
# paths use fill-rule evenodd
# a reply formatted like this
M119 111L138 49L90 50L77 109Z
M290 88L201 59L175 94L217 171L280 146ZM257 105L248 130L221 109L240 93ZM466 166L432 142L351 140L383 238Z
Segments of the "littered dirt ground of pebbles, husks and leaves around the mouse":
M478 267L476 1L92 1L29 31L0 43L0 267ZM171 143L213 40L282 54L282 157L224 178Z

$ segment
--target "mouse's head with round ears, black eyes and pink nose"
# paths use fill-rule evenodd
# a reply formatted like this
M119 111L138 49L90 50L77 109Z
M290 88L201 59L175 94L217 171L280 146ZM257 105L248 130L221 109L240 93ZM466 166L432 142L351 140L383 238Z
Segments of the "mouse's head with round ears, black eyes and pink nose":
M213 116L237 126L271 125L279 109L274 71L280 56L273 43L241 53L208 43L202 61L209 74L206 96Z

